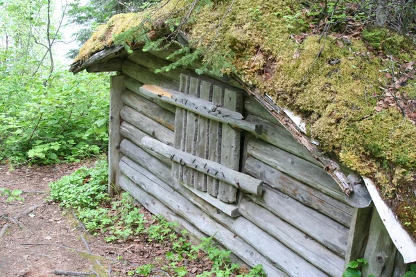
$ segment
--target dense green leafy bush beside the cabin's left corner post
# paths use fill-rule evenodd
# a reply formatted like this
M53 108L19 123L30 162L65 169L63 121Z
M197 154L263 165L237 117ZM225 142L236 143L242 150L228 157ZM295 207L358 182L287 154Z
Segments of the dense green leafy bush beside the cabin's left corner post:
M105 75L74 76L62 69L44 79L18 67L4 69L0 68L3 163L79 161L106 150Z

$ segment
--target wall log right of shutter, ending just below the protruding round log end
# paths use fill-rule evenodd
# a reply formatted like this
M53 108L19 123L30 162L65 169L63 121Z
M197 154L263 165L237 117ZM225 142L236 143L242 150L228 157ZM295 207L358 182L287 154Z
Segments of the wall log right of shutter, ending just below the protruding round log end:
M326 193L341 202L347 202L345 195L338 188L336 182L322 168L309 163L309 161L296 157L260 139L250 139L248 142L248 154L322 191L322 193Z

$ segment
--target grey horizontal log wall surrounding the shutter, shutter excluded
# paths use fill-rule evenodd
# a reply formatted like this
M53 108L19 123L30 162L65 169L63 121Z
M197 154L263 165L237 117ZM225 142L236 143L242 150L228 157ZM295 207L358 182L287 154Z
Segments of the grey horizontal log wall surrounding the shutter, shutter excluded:
M213 236L248 265L262 264L268 276L342 276L356 210L319 163L256 100L244 95L243 115L248 123L263 125L263 132L241 132L240 170L263 181L261 196L239 190L236 204L213 200L180 184L171 175L172 159L144 143L153 139L175 144L177 108L139 90L143 84L156 84L181 91L181 73L195 75L189 69L154 73L168 64L149 53L133 53L121 66L124 76L113 77L110 180L150 212L177 221L196 238ZM218 80L198 78L229 88Z

